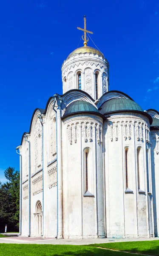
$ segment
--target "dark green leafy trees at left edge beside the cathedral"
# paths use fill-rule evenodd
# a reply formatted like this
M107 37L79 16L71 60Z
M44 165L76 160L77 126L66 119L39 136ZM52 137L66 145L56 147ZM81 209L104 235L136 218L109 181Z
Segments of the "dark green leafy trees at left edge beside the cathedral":
M20 173L8 167L4 174L8 181L0 183L0 231L4 232L5 224L7 231L19 231Z

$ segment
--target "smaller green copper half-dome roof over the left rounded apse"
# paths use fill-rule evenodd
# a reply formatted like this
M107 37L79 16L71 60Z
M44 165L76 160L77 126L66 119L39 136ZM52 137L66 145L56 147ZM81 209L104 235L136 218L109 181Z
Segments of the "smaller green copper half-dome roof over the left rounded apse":
M95 108L91 103L85 102L82 100L77 100L72 102L65 110L64 116L71 113L79 113L79 112L96 112L99 113L97 108Z

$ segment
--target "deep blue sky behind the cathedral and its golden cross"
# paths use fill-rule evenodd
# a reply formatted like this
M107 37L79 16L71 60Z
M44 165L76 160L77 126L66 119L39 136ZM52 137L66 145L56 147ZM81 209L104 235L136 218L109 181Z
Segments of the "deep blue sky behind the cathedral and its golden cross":
M159 0L0 3L0 180L35 108L62 94L61 65L77 48L83 15L94 43L110 64L110 90L159 111ZM79 47L82 46L82 40ZM91 41L88 46L94 47Z

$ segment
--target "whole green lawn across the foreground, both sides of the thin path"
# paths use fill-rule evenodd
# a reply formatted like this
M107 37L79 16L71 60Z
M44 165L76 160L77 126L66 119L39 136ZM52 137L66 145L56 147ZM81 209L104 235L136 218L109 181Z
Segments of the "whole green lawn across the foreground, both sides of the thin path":
M103 250L98 247L121 250ZM117 242L91 245L0 244L0 256L132 256L135 252L159 255L159 241Z

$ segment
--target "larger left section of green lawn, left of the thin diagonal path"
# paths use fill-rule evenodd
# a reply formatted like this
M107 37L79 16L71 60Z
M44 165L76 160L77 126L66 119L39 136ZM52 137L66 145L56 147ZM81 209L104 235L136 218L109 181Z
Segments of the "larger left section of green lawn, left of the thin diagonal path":
M123 253L88 245L0 244L0 256L123 256Z

